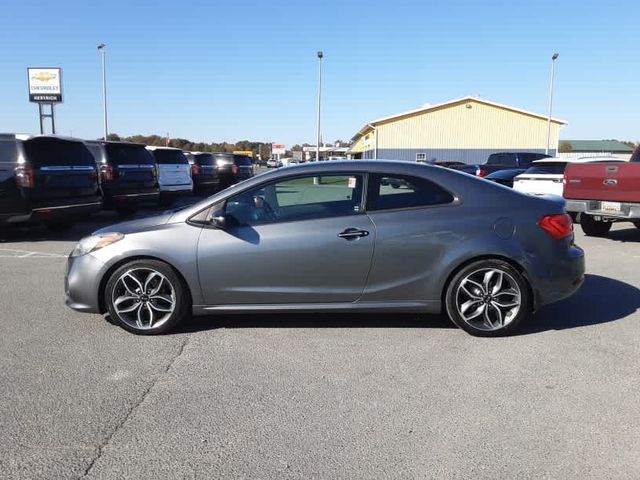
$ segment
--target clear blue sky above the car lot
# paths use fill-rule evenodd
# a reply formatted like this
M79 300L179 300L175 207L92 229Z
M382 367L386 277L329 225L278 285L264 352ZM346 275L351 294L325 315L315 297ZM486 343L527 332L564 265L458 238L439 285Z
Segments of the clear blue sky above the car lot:
M6 3L5 3L6 2ZM58 133L315 143L479 95L547 112L564 139L640 140L640 2L3 0L0 132L38 129L26 68L62 67Z

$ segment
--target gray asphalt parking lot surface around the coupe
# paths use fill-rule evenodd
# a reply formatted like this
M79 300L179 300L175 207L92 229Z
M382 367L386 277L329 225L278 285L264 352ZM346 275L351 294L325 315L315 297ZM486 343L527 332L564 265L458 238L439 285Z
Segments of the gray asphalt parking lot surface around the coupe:
M138 337L63 304L75 241L0 234L1 478L640 478L640 230L517 336L238 315Z

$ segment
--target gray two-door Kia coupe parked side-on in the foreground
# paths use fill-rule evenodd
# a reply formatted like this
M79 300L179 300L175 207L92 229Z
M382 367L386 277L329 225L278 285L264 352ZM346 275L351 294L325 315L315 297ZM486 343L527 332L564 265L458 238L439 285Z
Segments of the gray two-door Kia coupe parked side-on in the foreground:
M120 223L69 257L67 305L139 334L189 315L444 312L513 332L584 277L557 197L398 161L271 171L187 208Z

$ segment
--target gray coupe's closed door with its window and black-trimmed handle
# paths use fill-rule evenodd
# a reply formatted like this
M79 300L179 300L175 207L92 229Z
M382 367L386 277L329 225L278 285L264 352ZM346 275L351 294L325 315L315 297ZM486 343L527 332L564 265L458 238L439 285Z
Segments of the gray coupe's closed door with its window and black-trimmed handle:
M363 209L366 175L290 175L239 192L198 244L209 305L353 302L375 241Z

